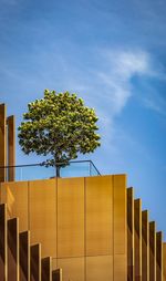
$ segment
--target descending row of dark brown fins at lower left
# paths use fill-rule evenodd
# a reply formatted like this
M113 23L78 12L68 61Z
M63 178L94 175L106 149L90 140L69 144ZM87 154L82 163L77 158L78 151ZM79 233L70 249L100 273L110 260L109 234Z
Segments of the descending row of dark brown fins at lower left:
M52 258L41 258L41 244L30 244L30 231L19 233L19 219L7 219L0 205L0 281L62 281L62 270L52 270Z

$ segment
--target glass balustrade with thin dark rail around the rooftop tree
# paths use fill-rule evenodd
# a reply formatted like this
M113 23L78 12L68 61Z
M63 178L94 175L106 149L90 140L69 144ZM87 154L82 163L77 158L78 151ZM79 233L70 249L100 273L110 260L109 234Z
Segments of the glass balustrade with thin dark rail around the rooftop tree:
M63 163L58 164L60 167ZM55 167L45 167L41 163L0 167L0 175L4 175L4 181L34 180L55 177ZM92 160L71 160L68 166L60 168L63 177L100 176L100 171Z

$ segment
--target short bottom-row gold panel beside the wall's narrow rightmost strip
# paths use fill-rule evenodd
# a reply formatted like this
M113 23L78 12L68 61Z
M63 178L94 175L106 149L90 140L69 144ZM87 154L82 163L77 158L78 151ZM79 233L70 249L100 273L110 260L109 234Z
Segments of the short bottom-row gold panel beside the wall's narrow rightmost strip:
M85 280L87 281L114 280L113 279L113 256L86 257L86 279Z

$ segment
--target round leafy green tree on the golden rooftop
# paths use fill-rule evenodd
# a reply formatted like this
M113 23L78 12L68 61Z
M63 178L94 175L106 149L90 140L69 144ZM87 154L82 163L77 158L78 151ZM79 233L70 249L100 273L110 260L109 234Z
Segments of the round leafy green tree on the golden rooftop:
M95 133L97 116L76 94L45 90L43 98L28 104L23 121L19 126L22 150L49 156L43 165L55 166L56 176L79 153L94 152L101 145Z

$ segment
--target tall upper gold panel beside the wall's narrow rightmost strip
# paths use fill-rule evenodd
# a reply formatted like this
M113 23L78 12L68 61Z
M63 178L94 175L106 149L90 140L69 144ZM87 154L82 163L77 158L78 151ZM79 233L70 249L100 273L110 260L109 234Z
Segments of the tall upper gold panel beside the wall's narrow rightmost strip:
M113 254L113 177L85 178L86 256Z

